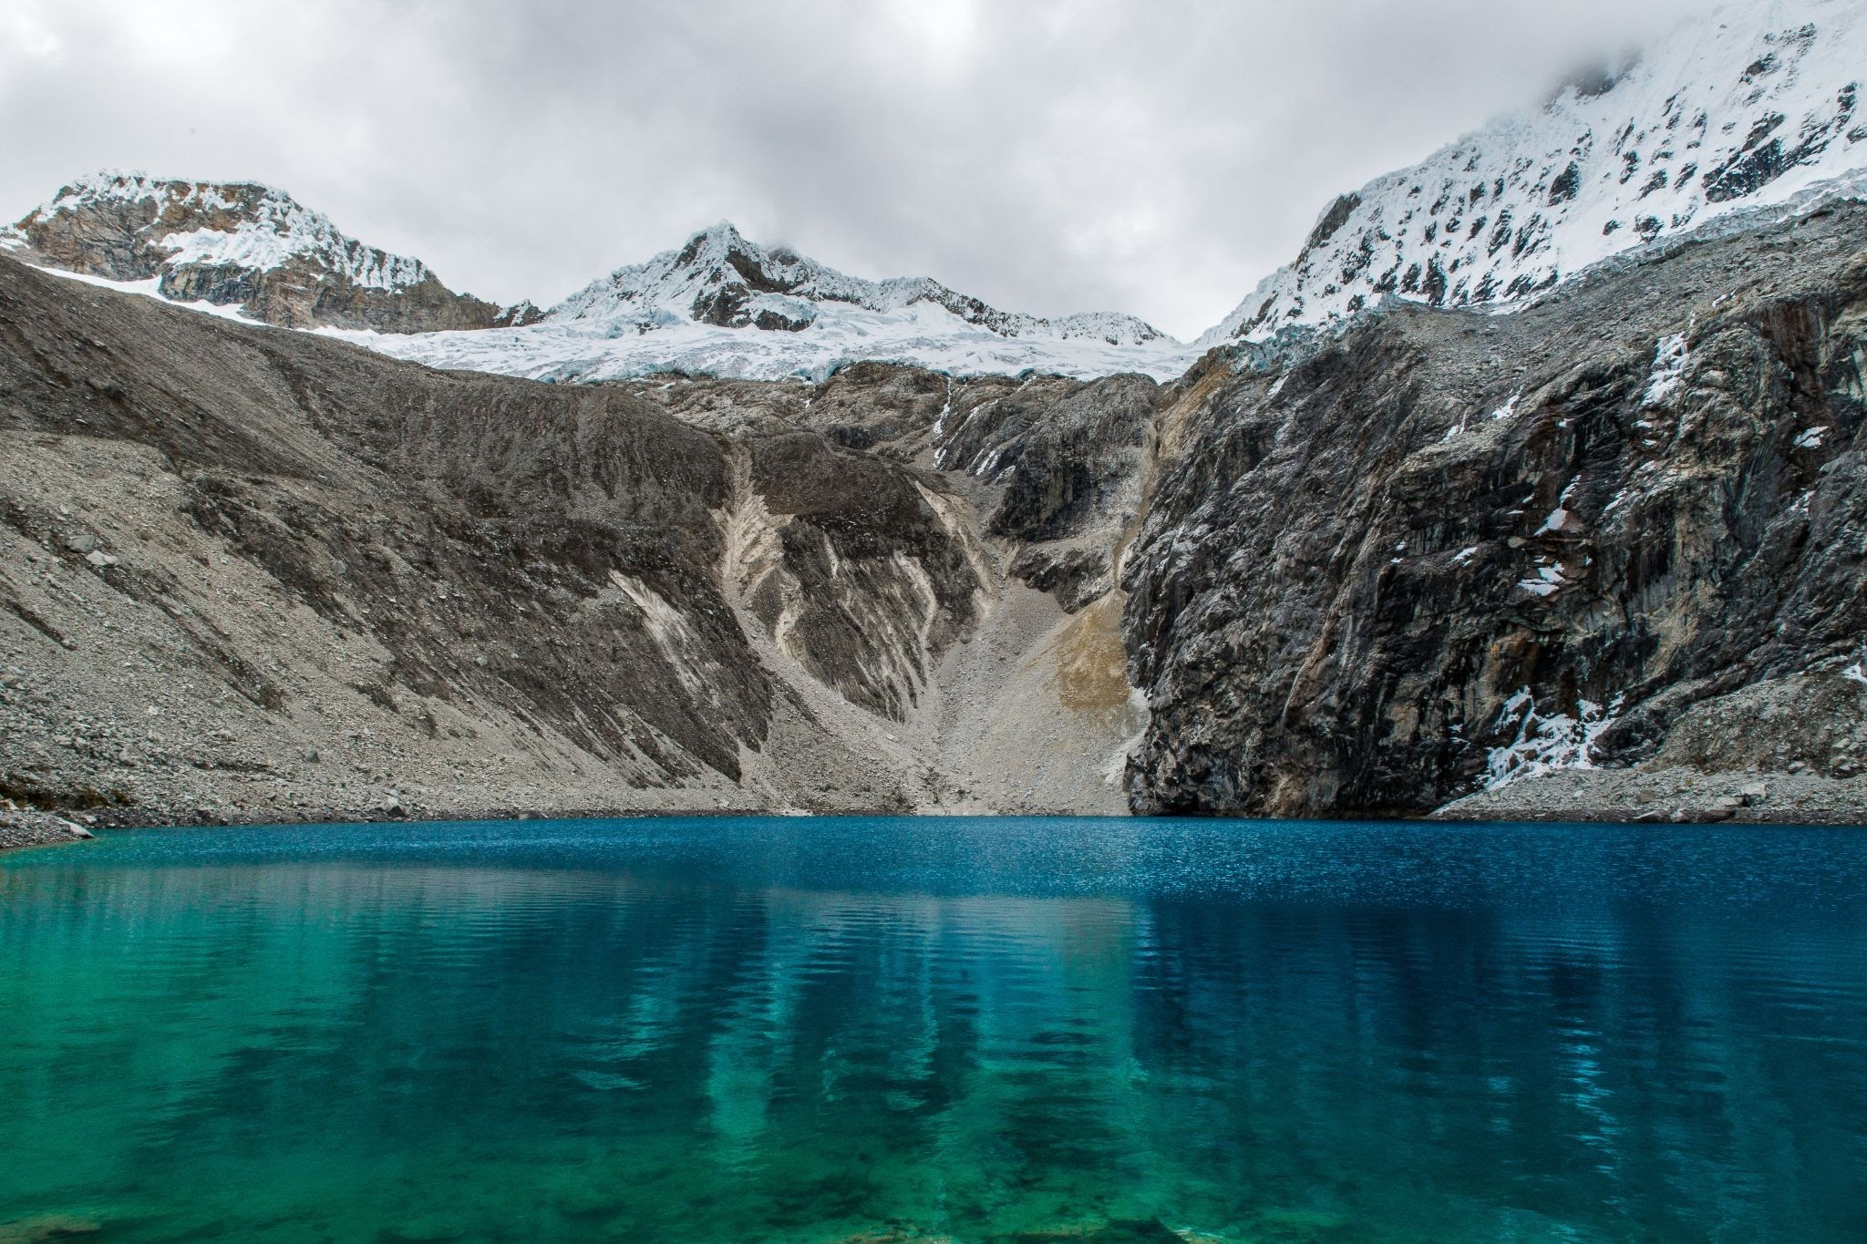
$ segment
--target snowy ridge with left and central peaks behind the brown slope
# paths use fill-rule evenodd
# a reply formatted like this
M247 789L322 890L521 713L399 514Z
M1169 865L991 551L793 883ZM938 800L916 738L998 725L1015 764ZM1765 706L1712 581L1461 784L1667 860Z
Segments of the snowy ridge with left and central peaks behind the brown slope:
M549 313L456 295L260 183L93 173L0 252L194 310L312 328L435 367L547 380L655 373L821 379L851 362L952 375L1178 375L1195 351L1133 315L1001 311L928 278L863 280L721 222Z

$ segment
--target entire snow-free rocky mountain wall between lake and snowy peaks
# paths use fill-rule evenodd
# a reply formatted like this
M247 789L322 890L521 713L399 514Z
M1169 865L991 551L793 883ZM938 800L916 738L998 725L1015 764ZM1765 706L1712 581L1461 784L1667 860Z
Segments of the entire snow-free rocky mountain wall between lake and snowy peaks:
M1858 819L1861 256L1167 386L536 384L0 259L0 798Z

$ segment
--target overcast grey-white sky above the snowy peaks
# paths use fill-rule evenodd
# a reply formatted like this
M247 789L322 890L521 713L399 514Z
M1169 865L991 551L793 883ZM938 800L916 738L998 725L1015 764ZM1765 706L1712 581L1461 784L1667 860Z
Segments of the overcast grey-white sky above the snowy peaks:
M1699 7L0 0L0 214L95 168L267 181L500 302L730 218L1191 338L1341 190Z

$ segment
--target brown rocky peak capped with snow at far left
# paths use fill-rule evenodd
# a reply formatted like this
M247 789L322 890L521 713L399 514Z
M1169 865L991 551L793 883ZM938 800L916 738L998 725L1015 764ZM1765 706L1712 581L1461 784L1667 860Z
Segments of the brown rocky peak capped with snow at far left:
M284 328L428 332L536 319L530 304L454 293L420 259L345 237L325 214L258 183L93 173L0 229L0 248Z

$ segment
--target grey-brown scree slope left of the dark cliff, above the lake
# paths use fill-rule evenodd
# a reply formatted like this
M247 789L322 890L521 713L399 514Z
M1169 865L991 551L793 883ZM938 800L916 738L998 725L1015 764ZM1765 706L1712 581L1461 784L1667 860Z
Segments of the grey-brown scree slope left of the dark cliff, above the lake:
M1004 485L932 459L1154 392L437 373L0 259L0 796L1118 809L1118 608L1010 578Z

